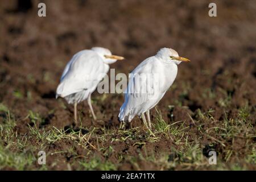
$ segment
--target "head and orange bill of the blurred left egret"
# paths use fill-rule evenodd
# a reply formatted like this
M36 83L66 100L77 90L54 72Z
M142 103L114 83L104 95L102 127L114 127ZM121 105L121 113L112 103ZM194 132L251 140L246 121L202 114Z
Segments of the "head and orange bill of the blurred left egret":
M103 47L93 47L93 51L98 53L106 64L112 64L115 63L117 60L123 60L124 57L122 56L115 56L112 55L112 53L109 51L109 49L103 48Z

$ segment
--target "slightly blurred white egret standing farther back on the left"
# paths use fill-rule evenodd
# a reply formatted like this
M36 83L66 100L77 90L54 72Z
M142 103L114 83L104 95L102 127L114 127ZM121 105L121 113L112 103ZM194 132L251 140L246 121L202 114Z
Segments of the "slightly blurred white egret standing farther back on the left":
M77 104L88 100L93 119L96 120L90 96L98 83L109 71L109 64L124 59L112 55L109 49L93 47L77 52L66 65L57 87L56 98L63 97L68 104L74 104L74 118L77 123Z

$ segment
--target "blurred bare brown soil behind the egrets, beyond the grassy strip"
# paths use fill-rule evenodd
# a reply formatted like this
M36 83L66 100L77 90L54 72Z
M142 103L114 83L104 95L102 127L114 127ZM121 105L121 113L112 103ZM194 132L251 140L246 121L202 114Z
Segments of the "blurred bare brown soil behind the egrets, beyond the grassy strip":
M38 16L40 2L46 3L46 17ZM100 46L126 58L110 65L115 73L130 73L162 47L173 48L191 60L179 65L174 85L157 106L168 123L182 120L189 121L190 126L192 118L200 120L197 111L201 111L214 118L208 123L200 120L209 128L222 125L224 119L237 118L246 106L246 121L255 126L256 1L214 1L217 17L208 15L210 2L213 1L0 1L0 123L6 121L5 111L10 110L18 134L29 131L31 112L42 117L44 122L38 125L43 130L71 125L73 106L55 100L61 73L76 52ZM98 118L110 127L119 126L122 94L94 93L92 98ZM90 127L89 107L80 104L78 109L82 124ZM152 109L153 119L155 115ZM133 125L141 126L136 121L139 119ZM188 133L192 141L196 137L203 143L209 139L206 135L200 137L200 133L193 138L195 133ZM229 141L221 137L219 140ZM236 141L230 148L246 148L247 141L253 140ZM168 144L163 146L166 151ZM250 152L251 149L248 155ZM147 165L144 168L156 169Z

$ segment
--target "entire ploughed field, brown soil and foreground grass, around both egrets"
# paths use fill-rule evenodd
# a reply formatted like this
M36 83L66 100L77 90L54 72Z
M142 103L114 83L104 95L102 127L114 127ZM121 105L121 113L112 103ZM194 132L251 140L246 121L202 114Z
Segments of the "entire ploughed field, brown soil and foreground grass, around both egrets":
M255 1L217 1L215 18L208 1L44 2L46 18L36 1L0 2L0 169L256 169ZM139 118L120 127L123 94L94 92L98 122L85 101L79 127L55 99L65 64L93 46L126 58L115 74L161 47L191 60L151 110L152 133Z

